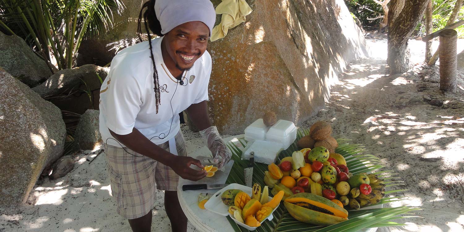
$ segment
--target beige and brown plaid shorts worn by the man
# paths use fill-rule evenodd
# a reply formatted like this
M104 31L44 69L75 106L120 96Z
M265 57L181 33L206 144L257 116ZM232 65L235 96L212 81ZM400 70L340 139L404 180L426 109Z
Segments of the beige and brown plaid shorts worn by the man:
M181 130L175 135L175 142L177 154L187 156ZM146 215L155 205L156 188L177 191L179 176L168 166L126 147L104 145L111 192L116 201L117 213L124 218L136 219ZM158 146L169 151L169 142Z

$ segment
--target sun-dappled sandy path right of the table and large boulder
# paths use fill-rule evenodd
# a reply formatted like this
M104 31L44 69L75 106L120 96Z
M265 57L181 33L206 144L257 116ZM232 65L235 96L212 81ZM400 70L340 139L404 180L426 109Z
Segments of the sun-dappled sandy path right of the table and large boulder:
M387 75L386 61L361 59L345 72L332 89L326 109L305 122L332 122L333 134L366 146L398 173L409 189L397 193L408 199L391 206L419 206L423 218L403 220L408 226L379 231L462 230L464 225L464 105L460 94L442 94L438 83L423 81L431 71L416 65L402 75ZM428 91L418 86L427 85ZM443 100L433 106L427 99Z

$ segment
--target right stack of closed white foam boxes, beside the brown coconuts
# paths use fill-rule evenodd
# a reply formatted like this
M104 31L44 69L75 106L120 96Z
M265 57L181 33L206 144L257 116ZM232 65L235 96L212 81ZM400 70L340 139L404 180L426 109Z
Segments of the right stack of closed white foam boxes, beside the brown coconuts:
M296 126L293 122L279 120L269 128L266 133L266 141L276 142L282 145L282 149L287 149L295 142Z

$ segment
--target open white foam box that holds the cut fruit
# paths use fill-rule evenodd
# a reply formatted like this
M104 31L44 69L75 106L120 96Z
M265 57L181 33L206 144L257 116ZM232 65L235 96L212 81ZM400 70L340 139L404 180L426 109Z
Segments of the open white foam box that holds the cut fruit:
M244 185L240 185L240 184L237 184L237 183L233 183L233 184L229 184L228 186L220 189L218 192L214 193L213 196L206 202L205 204L205 208L213 213L217 213L219 215L222 215L222 216L227 216L229 215L232 220L235 221L235 223L237 223L237 225L239 226L242 226L244 228L246 228L247 230L250 230L250 231L253 231L253 230L256 230L256 228L258 228L258 226L247 226L245 223L242 223L240 221L238 221L233 213L229 213L228 210L229 210L229 206L225 205L223 202L222 202L222 199L221 199L221 196L222 196L222 193L226 192L227 190L229 189L238 189L238 190L241 190L245 193L247 193L249 196L252 195L252 188L251 187L246 187ZM267 202L271 201L272 198L271 196L269 196ZM274 207L274 209L272 210L272 213L274 213L274 211L277 209L277 207L280 205L280 203ZM264 220L272 220L274 219L274 217L272 216L272 213L269 214L268 217L266 217L265 219L262 219L262 221ZM245 219L243 219L245 221ZM262 222L261 221L261 222Z

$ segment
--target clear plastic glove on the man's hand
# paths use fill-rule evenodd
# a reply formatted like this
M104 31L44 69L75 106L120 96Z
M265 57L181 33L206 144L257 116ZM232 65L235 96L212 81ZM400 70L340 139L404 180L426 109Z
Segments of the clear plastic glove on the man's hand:
M213 154L214 162L217 163L218 169L223 170L223 167L229 162L232 157L231 152L226 147L226 143L222 141L216 126L208 127L200 131L201 137L205 140L208 149Z

